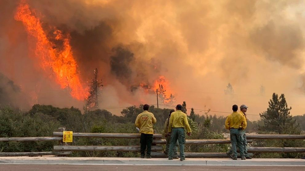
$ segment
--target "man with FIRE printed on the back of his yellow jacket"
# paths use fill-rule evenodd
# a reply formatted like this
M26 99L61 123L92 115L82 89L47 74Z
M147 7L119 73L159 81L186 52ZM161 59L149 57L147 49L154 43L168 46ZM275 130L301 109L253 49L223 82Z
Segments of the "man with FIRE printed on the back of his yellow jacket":
M146 158L151 158L151 149L152 149L152 139L153 139L153 128L152 124L156 123L156 118L155 116L151 113L148 112L149 105L145 104L143 106L143 112L140 113L137 116L137 119L135 121L135 126L140 128L140 144L141 144L141 158L144 158L145 156L145 149L147 146L147 153L146 153Z

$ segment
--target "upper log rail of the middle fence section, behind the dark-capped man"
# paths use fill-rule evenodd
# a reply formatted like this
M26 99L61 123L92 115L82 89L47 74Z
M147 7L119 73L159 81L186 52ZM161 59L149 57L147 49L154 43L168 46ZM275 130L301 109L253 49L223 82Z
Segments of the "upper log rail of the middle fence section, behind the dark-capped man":
M248 143L252 143L253 140L249 139ZM154 139L153 144L166 144L165 139ZM230 139L186 139L185 144L231 144Z

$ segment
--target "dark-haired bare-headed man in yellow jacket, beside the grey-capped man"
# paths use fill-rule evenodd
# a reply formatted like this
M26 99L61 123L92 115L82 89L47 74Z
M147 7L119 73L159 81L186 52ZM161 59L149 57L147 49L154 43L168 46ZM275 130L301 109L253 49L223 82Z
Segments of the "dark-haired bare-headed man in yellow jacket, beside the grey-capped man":
M247 121L246 118L240 113L237 112L238 106L233 105L232 110L233 113L231 113L225 122L226 129L230 130L230 139L232 144L232 150L233 150L233 160L237 160L237 151L236 151L236 145L238 146L240 150L240 156L242 160L246 160L245 153L244 153L244 135L243 130L247 127Z

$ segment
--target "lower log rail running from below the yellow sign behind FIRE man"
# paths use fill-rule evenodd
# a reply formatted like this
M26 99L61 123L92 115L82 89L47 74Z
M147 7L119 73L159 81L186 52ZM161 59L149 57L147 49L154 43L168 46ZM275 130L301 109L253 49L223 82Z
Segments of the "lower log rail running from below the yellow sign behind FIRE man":
M140 146L54 146L54 151L140 151ZM152 146L152 151L162 151L162 146Z

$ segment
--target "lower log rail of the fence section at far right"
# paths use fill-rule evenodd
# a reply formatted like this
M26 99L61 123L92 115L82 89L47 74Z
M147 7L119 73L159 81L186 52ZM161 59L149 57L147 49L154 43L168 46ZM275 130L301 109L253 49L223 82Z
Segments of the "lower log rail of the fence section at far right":
M248 147L252 153L304 153L303 147Z

